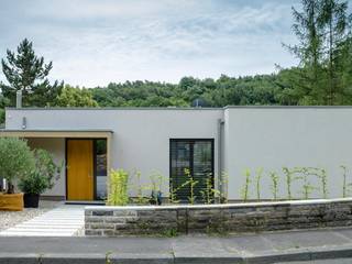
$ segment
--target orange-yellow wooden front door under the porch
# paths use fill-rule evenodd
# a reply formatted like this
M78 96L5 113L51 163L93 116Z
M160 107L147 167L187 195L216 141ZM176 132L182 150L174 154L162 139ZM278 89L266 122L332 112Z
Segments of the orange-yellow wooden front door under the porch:
M67 199L94 199L92 140L67 140Z

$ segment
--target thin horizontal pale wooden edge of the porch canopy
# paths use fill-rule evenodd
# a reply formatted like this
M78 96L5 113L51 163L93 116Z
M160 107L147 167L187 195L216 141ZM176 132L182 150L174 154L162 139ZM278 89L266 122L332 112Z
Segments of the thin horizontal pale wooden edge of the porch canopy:
M0 130L0 136L15 138L110 138L111 130Z

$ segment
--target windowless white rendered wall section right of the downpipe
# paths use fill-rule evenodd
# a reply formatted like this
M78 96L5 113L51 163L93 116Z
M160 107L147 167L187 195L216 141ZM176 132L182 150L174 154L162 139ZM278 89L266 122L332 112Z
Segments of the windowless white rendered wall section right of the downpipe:
M352 109L351 108L228 108L224 111L224 170L230 175L229 195L240 198L243 170L263 167L262 198L271 198L268 170L280 176L280 195L286 197L283 166L326 168L330 197L341 197L340 165L352 172ZM349 182L352 182L350 173ZM310 178L315 187L320 182ZM299 196L301 183L296 182L294 194ZM314 196L319 197L319 191ZM254 184L251 197L255 198Z

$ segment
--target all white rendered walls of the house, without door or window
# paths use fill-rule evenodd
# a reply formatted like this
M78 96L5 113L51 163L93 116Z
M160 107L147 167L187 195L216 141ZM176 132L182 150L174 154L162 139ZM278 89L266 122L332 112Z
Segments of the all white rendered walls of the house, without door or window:
M229 198L239 199L243 170L250 168L252 179L264 168L262 198L272 197L268 172L279 175L280 197L286 198L283 166L326 168L330 197L341 197L341 165L346 165L352 183L352 108L275 108L249 107L222 109L111 109L111 110L8 110L7 129L21 129L26 118L28 130L112 130L114 168L165 175L164 195L168 195L169 139L215 139L215 173L218 172L218 119L223 119L223 170L229 174ZM37 140L33 144L52 148L64 156L64 140ZM62 177L61 180L65 180ZM216 180L217 183L217 180ZM320 182L310 183L320 188ZM301 183L293 194L301 196ZM251 198L255 198L254 183ZM59 182L50 194L65 193ZM131 195L134 195L133 193ZM314 193L320 197L319 190Z

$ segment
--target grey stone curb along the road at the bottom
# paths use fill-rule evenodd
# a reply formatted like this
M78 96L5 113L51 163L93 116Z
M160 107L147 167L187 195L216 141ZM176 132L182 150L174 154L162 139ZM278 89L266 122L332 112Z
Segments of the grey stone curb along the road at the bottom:
M287 251L284 253L266 252L257 255L234 256L175 256L165 254L111 254L111 264L270 264L279 262L332 260L352 257L352 246L334 249L315 249ZM106 264L105 254L16 254L0 253L0 263L6 264Z

